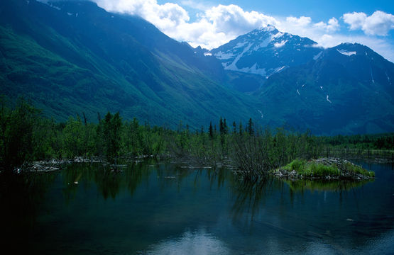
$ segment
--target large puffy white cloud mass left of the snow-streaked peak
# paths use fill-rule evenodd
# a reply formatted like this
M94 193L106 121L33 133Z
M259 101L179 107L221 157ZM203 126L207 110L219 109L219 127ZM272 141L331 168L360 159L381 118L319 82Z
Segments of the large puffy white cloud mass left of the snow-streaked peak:
M177 40L189 42L192 46L206 48L219 47L229 40L249 31L278 24L278 21L256 11L243 11L234 4L207 7L199 13L195 22L189 22L190 16L178 4L158 4L156 0L93 0L106 11L129 13L141 16L153 23L163 33ZM182 1L191 5L192 1Z

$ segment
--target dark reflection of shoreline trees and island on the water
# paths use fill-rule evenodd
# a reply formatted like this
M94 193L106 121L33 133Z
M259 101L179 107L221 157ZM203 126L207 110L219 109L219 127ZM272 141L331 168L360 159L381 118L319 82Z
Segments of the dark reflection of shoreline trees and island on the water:
M234 215L242 211L250 210L253 215L258 212L258 206L263 198L275 191L283 191L284 183L290 187L290 196L304 191L349 191L359 188L368 181L323 181L323 180L279 180L267 176L261 179L240 179L226 168L217 169L193 169L187 166L174 165L168 162L131 162L124 164L118 169L108 164L78 164L69 166L62 171L63 195L67 203L75 198L78 188L82 185L88 188L93 184L97 186L99 193L106 200L115 199L124 189L128 190L130 196L137 190L141 183L149 183L152 174L155 174L164 190L168 186L180 187L182 182L193 176L193 187L198 189L199 185L208 179L210 188L223 188L228 182L231 191L236 197L233 211Z

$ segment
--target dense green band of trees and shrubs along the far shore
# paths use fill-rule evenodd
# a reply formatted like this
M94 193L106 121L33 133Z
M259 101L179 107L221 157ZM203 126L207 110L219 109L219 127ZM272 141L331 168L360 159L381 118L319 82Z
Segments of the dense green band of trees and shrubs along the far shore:
M344 154L373 154L385 150L393 157L394 134L337 135L318 137L310 132L284 128L256 127L248 123L227 123L220 118L207 127L191 130L179 123L176 130L123 120L119 113L97 114L97 123L84 113L57 123L23 98L13 105L0 103L1 171L45 159L101 157L111 162L118 158L175 157L200 164L232 162L240 169L267 171L293 159L336 157Z

